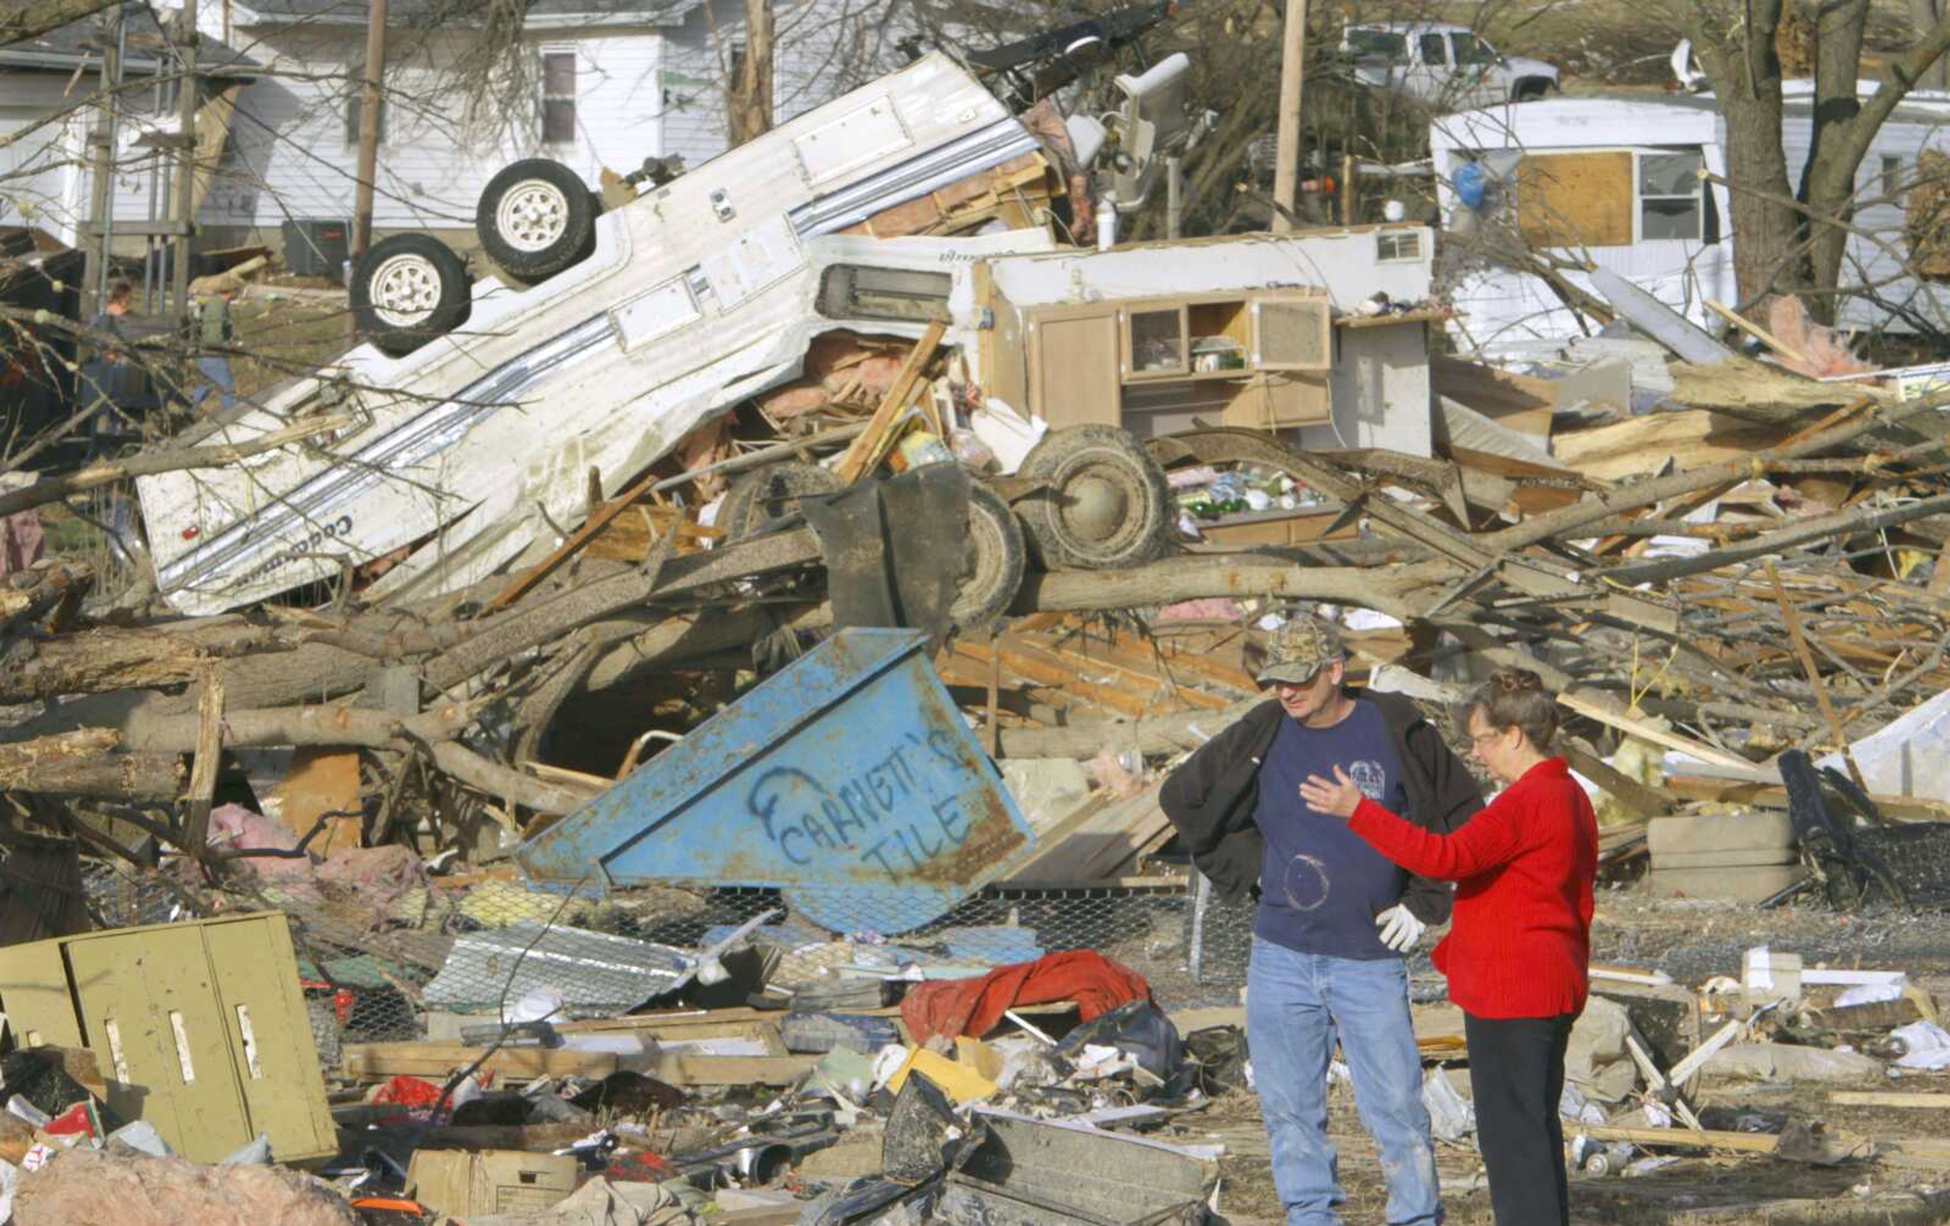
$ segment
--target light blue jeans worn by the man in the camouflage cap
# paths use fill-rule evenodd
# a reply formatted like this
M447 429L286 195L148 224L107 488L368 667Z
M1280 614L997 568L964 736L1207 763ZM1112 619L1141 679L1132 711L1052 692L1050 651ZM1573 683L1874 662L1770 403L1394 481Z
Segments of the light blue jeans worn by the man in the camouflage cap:
M1381 1150L1388 1224L1435 1226L1443 1205L1429 1111L1422 1105L1422 1054L1408 1019L1408 967L1398 957L1297 953L1254 938L1246 1043L1287 1226L1340 1222L1334 1207L1344 1197L1328 1140L1336 1033L1353 1074L1361 1123Z

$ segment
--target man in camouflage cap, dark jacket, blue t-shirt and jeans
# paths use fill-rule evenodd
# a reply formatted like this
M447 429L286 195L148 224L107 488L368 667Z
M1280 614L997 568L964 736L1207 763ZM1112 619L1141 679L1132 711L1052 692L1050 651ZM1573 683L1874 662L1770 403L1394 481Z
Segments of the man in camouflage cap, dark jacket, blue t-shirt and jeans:
M1346 669L1334 626L1283 624L1258 672L1268 702L1191 754L1158 799L1213 889L1258 899L1246 1041L1289 1226L1340 1220L1326 1138L1336 1035L1381 1150L1388 1224L1435 1224L1435 1148L1402 955L1449 918L1449 887L1410 877L1347 823L1310 811L1299 785L1338 766L1392 813L1443 834L1482 809L1482 793L1412 702L1349 690Z

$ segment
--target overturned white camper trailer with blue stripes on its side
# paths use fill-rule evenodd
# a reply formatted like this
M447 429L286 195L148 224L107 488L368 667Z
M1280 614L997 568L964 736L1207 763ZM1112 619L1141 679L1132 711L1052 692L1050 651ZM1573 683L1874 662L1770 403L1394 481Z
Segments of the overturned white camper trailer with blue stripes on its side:
M595 222L593 251L530 288L472 287L462 329L406 357L372 345L179 442L250 442L351 413L304 448L142 478L162 596L214 614L411 548L374 594L478 581L575 522L684 433L792 378L829 327L918 335L848 314L825 275L885 273L1049 246L840 240L852 226L1035 148L973 76L928 55L743 144Z

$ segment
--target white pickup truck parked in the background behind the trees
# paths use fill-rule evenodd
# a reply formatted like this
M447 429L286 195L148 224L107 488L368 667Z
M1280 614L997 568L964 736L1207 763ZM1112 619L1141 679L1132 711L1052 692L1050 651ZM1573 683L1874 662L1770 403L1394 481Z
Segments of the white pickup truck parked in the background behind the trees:
M1447 21L1349 25L1340 51L1353 60L1359 84L1439 111L1531 101L1558 90L1552 64L1503 55L1468 25Z

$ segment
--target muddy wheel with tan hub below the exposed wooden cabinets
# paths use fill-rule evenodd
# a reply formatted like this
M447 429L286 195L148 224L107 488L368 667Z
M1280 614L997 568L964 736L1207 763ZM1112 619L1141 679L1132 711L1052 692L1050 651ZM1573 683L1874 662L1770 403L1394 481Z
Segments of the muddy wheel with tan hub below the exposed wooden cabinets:
M1045 569L1139 565L1170 548L1172 487L1129 431L1051 431L1024 456L1018 476L1047 483L1016 503Z

